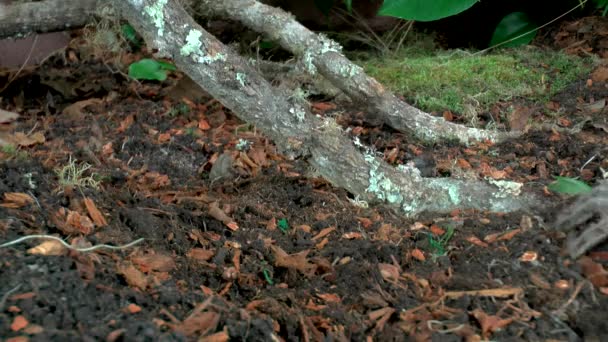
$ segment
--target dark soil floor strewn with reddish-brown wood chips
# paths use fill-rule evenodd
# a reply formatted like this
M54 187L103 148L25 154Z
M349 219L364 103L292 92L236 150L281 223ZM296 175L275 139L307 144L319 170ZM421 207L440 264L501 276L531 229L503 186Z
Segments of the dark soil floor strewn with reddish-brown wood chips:
M602 55L596 38L560 39ZM123 247L0 248L0 340L608 340L608 254L569 258L552 225L569 199L417 220L365 207L177 73L130 81L79 42L0 94L18 113L0 112L0 244ZM496 104L550 128L466 148L408 141L345 103L312 108L428 176L595 184L606 99L600 65L545 103Z

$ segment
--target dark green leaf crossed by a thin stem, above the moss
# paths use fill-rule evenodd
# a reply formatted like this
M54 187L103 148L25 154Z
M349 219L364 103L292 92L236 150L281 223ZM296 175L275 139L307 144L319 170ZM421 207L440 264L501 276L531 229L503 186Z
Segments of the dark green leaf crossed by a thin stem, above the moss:
M502 44L501 46L514 47L514 46L526 45L526 44L530 43L532 41L532 39L534 39L534 37L536 36L536 31L532 31L532 30L535 30L537 27L538 26L536 24L534 24L530 20L528 15L524 12L513 12L510 14L507 14L498 23L498 26L496 26L496 29L494 30L494 34L492 35L492 40L490 41L490 46L495 46L495 45L501 44L502 42L506 42L515 37L518 37L518 38L513 39L512 41L510 41L508 43ZM530 32L530 31L532 31L532 32ZM519 37L520 35L522 35L526 32L530 32L530 33Z

